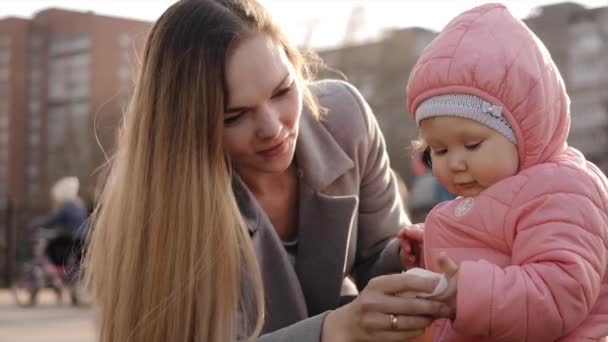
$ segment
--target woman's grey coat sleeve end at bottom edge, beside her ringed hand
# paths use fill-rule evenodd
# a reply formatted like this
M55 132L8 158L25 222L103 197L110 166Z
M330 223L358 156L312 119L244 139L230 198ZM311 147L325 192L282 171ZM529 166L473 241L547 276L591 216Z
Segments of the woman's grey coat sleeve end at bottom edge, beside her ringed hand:
M325 312L260 336L258 342L321 342Z

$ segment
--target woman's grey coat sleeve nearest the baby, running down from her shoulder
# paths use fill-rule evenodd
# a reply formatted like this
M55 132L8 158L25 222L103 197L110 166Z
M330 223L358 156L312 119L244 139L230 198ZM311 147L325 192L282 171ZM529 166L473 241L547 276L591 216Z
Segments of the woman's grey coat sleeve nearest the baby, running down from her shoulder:
M362 289L375 276L402 270L400 244L395 236L410 220L403 208L378 122L361 94L348 84L346 87L358 104L367 135L357 152L361 184L357 252L353 268L357 287Z

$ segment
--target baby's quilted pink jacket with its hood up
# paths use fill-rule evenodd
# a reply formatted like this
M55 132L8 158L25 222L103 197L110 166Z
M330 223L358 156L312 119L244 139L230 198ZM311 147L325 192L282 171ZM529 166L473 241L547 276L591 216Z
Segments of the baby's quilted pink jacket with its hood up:
M545 47L502 5L467 11L414 67L410 112L443 93L502 105L520 171L429 214L427 267L441 251L460 266L456 318L435 340L608 340L608 181L566 144L570 100Z

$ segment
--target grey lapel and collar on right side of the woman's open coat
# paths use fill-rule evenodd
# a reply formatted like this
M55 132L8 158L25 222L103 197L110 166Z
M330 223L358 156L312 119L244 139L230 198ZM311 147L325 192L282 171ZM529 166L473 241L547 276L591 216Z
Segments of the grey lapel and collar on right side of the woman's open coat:
M296 162L300 170L296 272L309 314L315 315L337 307L340 298L358 198L326 192L354 162L307 112L300 122Z

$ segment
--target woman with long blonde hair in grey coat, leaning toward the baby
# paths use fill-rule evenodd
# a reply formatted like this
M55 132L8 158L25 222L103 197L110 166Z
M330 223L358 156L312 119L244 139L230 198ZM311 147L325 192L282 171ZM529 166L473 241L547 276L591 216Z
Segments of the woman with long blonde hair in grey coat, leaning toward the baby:
M402 341L446 314L393 296L430 281L369 281L408 220L367 104L309 76L253 0L156 22L87 255L101 341Z

